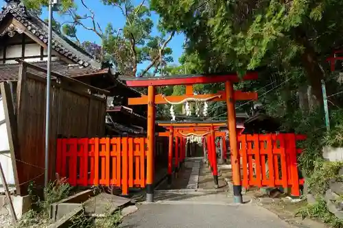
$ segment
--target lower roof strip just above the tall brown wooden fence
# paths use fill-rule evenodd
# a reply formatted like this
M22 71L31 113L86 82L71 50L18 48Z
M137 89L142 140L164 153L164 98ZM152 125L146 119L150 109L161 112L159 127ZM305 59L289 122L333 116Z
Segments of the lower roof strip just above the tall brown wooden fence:
M41 68L47 68L47 62L34 62L31 64L40 66ZM0 65L0 81L16 81L18 79L19 66L19 64ZM54 61L51 62L51 71L64 76L78 77L80 75L92 73L108 73L108 68L104 70L97 70L90 67L66 64L62 61ZM40 76L45 77L45 74Z

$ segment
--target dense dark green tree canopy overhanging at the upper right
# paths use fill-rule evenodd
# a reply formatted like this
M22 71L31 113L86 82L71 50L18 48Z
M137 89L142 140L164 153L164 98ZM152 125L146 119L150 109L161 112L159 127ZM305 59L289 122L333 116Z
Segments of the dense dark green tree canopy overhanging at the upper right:
M292 71L301 66L322 101L323 60L343 41L342 1L151 0L150 5L165 29L185 33L187 51L198 53L202 71L244 73L260 66Z

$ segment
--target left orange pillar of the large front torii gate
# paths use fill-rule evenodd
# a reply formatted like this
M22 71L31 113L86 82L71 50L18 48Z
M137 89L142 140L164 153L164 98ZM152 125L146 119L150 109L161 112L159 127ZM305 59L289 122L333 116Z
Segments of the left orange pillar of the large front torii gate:
M147 184L146 201L154 202L155 91L147 88Z

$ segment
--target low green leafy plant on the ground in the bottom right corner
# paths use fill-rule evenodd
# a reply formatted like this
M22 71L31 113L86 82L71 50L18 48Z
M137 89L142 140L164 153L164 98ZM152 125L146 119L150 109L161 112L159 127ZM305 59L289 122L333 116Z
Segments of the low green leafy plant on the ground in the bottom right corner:
M306 207L301 208L296 213L296 216L301 216L301 218L317 218L324 223L328 223L332 227L343 227L343 221L336 218L331 214L331 212L329 212L327 209L327 203L325 203L323 199L320 199L314 205L307 205Z

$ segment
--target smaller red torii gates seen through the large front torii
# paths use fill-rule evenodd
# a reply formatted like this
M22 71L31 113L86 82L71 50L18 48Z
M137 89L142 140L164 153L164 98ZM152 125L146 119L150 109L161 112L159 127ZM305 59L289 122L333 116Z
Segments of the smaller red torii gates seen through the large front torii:
M180 170L178 151L182 151L182 147L185 147L185 158L201 156L203 157L204 164L209 164L215 188L218 188L217 160L224 164L228 158L228 145L226 144L227 135L226 131L221 130L221 128L227 127L227 123L227 120L189 122L158 121L158 126L167 129L167 132L159 133L158 136L169 137L170 142L168 152L169 186L171 186L173 171L175 176L178 177L178 171ZM236 131L238 135L241 134L241 132L244 131L244 126L237 123ZM186 144L184 140L186 140ZM173 141L174 144L172 143ZM220 145L218 145L217 142L220 142ZM201 149L201 154L199 151L196 151L197 147L198 149ZM173 160L174 157L175 160Z

